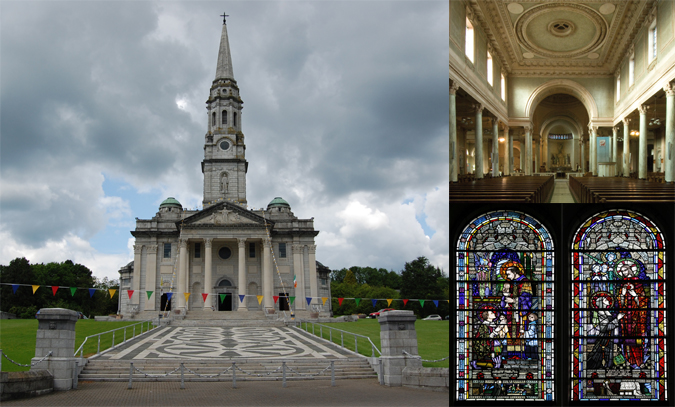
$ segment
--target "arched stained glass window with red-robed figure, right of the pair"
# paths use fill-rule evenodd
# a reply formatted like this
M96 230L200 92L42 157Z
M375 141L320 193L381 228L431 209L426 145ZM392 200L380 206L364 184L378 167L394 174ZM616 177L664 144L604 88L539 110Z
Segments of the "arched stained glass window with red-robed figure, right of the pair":
M665 240L628 210L601 212L572 244L572 400L666 400Z

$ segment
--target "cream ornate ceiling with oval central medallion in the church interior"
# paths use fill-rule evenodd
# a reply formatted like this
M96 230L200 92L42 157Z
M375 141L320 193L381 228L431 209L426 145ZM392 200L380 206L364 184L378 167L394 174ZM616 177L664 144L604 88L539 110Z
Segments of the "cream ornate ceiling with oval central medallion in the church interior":
M470 0L512 76L613 75L655 0Z

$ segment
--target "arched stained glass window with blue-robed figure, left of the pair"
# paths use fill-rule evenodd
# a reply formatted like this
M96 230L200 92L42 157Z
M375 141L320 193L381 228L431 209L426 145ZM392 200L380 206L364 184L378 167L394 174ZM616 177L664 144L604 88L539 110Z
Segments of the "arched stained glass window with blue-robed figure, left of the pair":
M457 399L553 400L553 241L495 211L457 242Z

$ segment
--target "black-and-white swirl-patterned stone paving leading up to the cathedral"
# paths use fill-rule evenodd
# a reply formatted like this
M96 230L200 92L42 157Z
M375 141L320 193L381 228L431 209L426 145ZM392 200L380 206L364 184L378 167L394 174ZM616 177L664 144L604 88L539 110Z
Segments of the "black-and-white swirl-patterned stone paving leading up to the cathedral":
M346 358L353 354L287 327L164 327L101 359Z

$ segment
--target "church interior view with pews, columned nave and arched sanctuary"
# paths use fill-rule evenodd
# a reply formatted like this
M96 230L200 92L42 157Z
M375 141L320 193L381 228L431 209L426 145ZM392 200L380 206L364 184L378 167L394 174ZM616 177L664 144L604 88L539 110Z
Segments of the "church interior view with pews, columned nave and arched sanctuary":
M675 202L675 2L450 1L450 203Z

